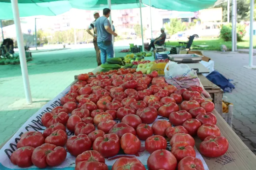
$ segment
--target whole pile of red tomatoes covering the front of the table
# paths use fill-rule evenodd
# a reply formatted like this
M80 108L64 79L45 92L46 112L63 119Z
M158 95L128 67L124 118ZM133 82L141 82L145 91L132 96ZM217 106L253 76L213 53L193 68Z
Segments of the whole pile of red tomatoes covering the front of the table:
M214 104L201 97L199 86L177 89L156 71L111 77L85 73L78 80L61 98L63 106L42 116L43 133L21 136L11 155L13 164L58 166L68 151L76 156L75 170L107 170L104 158L122 149L128 155L149 152L149 170L204 169L196 158L194 136L202 140L199 151L206 157L221 156L228 149L211 113ZM68 138L66 128L74 136ZM145 148L141 147L143 140ZM171 151L166 150L167 141ZM145 170L132 156L120 157L112 166L112 170L129 168Z

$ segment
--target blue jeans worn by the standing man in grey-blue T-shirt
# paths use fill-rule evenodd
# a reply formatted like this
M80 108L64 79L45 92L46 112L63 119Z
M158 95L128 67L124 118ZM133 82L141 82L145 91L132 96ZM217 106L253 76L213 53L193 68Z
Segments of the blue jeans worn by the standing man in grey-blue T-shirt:
M106 63L107 56L108 56L108 58L114 57L114 50L113 50L112 42L109 46L104 45L103 41L98 42L98 47L100 48L100 59L101 59L102 64Z

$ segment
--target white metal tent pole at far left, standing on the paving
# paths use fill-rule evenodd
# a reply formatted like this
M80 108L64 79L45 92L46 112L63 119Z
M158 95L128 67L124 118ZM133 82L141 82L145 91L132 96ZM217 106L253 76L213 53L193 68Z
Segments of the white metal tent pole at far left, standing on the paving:
M22 71L25 96L26 96L27 103L30 104L32 103L32 97L31 97L31 91L30 91L30 85L29 85L29 79L28 79L28 68L27 68L27 62L26 62L24 41L23 41L22 31L20 27L18 0L11 0L11 3L12 3L13 20L14 20L16 34L17 34L19 61L20 61L20 67Z

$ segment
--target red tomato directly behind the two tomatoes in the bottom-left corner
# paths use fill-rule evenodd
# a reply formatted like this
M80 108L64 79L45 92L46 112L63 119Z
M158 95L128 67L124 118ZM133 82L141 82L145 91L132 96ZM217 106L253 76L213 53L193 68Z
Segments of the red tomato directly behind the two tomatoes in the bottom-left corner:
M41 132L25 132L17 143L17 148L31 146L33 148L44 144L44 135Z

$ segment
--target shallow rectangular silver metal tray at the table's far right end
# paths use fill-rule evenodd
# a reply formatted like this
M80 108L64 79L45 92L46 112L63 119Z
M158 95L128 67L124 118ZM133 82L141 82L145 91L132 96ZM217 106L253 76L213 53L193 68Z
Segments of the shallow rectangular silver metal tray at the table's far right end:
M197 63L202 61L201 55L198 54L168 54L170 61L177 63Z

